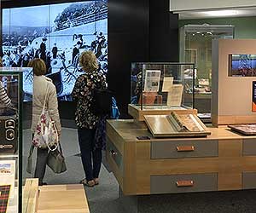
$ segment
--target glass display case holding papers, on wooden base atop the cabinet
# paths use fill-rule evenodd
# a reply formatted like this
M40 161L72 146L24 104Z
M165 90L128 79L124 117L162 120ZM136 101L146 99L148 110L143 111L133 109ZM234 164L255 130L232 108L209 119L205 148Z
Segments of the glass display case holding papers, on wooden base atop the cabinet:
M146 114L196 113L194 82L194 63L131 63L128 112L138 120Z

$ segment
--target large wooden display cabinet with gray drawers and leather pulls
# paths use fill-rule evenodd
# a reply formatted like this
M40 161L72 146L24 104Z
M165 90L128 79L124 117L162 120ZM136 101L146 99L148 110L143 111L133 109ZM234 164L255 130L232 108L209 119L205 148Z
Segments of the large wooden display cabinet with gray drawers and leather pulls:
M256 188L256 136L227 127L207 137L156 139L144 122L108 120L107 159L125 195ZM137 136L150 140L137 140Z

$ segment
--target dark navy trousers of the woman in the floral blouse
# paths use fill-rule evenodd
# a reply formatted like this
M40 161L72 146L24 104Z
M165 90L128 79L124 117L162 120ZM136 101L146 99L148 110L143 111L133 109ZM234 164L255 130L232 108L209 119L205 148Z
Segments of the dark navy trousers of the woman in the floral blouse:
M91 181L99 177L102 165L102 149L95 148L96 130L79 128L79 146L85 178Z

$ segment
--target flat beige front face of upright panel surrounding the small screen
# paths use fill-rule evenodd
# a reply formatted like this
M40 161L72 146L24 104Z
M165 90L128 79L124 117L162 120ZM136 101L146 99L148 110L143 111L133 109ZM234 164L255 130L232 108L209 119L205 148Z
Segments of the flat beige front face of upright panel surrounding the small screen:
M218 40L218 114L250 115L252 82L256 77L228 77L229 54L256 55L256 39Z

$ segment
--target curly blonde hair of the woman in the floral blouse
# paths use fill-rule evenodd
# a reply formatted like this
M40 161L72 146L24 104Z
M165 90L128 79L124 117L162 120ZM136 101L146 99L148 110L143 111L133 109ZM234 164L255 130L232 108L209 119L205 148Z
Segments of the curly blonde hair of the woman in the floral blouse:
M99 68L96 55L92 51L84 51L79 57L79 64L85 72L96 71Z

